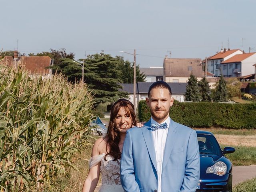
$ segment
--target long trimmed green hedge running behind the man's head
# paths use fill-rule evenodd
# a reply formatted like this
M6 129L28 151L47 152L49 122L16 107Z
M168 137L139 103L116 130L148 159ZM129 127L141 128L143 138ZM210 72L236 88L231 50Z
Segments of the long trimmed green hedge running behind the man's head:
M256 104L209 102L174 102L170 108L172 120L189 127L256 128ZM139 102L139 119L147 121L150 110L146 101Z

